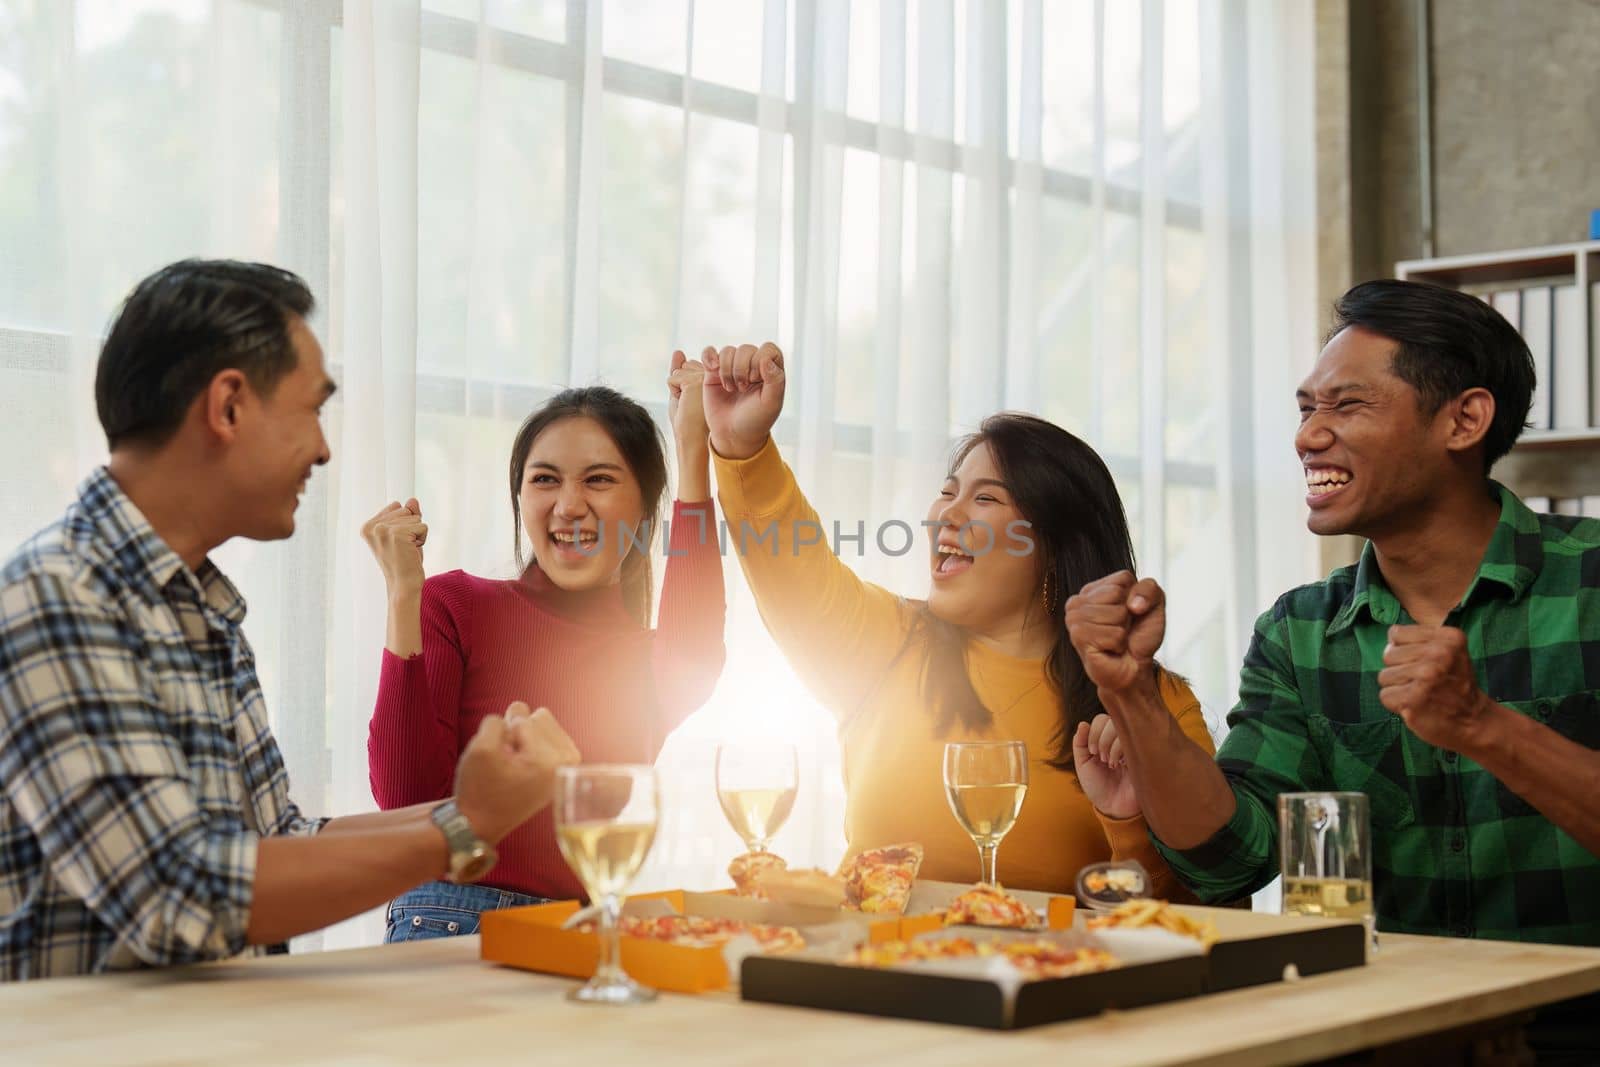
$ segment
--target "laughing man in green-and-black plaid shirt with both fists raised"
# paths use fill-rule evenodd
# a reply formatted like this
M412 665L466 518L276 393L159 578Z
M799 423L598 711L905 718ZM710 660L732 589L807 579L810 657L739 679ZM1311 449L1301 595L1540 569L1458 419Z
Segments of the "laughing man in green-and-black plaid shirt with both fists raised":
M1256 621L1214 761L1155 696L1162 590L1123 573L1069 603L1109 712L1080 729L1085 790L1130 779L1203 899L1277 877L1278 793L1355 790L1381 929L1600 944L1600 523L1488 478L1533 386L1482 301L1406 282L1339 301L1294 445L1310 530L1368 544Z

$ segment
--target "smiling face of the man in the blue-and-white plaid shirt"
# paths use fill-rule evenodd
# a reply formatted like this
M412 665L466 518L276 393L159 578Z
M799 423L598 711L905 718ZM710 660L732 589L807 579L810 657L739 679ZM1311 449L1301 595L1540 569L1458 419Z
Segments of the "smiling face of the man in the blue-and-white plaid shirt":
M278 541L294 533L306 483L330 458L322 408L334 384L323 366L322 346L298 315L290 317L288 334L294 370L266 395L246 382L227 454L234 531L254 541Z

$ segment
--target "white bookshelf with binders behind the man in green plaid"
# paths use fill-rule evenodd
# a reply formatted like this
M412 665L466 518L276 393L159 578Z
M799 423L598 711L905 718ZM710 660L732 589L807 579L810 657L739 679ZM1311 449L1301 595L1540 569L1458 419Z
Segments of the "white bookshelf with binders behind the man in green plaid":
M1600 240L1406 259L1395 277L1472 293L1522 331L1539 392L1494 477L1550 510L1600 515Z

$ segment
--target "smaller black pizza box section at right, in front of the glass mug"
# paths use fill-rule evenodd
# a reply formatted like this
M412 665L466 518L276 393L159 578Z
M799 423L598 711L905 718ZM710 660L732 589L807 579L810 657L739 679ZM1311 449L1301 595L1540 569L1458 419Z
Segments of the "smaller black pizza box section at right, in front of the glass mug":
M1211 945L1206 974L1206 992L1211 993L1366 965L1368 934L1360 920L1187 904L1174 907L1216 926L1218 941Z

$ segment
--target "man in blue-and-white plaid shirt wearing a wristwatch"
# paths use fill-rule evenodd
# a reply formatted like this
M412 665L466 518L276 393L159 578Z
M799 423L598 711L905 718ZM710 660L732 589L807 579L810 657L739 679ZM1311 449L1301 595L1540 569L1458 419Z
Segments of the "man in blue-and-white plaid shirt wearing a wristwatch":
M328 462L310 309L259 264L146 278L96 373L110 464L0 568L0 979L259 952L477 870L578 758L514 704L437 808L290 800L245 601L208 553L290 536Z

